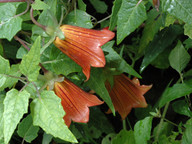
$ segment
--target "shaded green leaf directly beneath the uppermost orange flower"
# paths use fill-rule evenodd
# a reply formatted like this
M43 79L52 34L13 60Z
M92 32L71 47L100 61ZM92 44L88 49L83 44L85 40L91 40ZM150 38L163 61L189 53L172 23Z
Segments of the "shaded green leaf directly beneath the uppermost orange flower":
M63 74L67 76L72 72L80 72L81 67L71 60L67 55L63 54L55 46L52 47L50 61L52 61L52 70L56 74Z

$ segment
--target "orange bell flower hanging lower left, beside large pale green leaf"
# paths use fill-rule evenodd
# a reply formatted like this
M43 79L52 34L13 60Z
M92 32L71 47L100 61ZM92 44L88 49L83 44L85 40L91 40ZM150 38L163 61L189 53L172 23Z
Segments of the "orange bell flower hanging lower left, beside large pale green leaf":
M66 78L64 78L63 82L55 82L53 90L61 98L61 104L66 113L64 121L68 127L71 124L71 120L87 123L89 121L88 107L103 103L95 95L84 92Z

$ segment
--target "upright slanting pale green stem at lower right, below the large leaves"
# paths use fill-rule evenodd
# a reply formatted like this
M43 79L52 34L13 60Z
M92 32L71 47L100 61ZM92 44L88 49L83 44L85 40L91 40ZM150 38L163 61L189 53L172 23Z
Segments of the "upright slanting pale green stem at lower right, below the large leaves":
M161 132L161 129L163 127L163 121L165 119L165 115L167 113L167 110L168 110L168 107L169 107L169 102L165 105L165 108L163 110L163 114L162 114L162 117L161 117L161 121L159 123L159 126L158 126L158 129L157 129L157 133L156 133L156 136L155 136L155 142L158 142L158 139L159 139L159 134Z

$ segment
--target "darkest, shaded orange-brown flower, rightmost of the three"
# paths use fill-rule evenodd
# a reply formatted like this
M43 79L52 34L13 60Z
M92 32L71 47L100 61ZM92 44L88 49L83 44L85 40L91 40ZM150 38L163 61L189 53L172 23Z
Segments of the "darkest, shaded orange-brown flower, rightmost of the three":
M151 89L152 85L141 85L137 78L130 80L124 74L114 76L114 85L111 89L109 82L106 88L112 99L115 110L125 119L132 108L147 107L144 94ZM111 113L109 109L107 113Z

